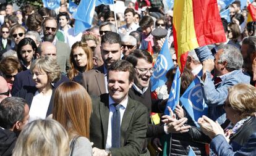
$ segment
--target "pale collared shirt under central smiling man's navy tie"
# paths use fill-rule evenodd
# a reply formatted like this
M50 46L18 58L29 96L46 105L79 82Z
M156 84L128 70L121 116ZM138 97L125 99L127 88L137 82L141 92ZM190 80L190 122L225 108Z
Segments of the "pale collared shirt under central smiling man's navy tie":
M113 104L115 104L116 102L113 101L113 99L109 96L108 97L108 101L109 101L109 117L108 117L108 136L107 136L107 140L106 140L106 149L110 149L112 147L112 117L113 117L113 113L114 111L116 111L115 107ZM124 116L124 111L126 110L128 104L128 96L126 96L126 98L124 99L124 101L122 101L120 103L120 105L122 105L120 107L120 126L122 124L122 117Z

